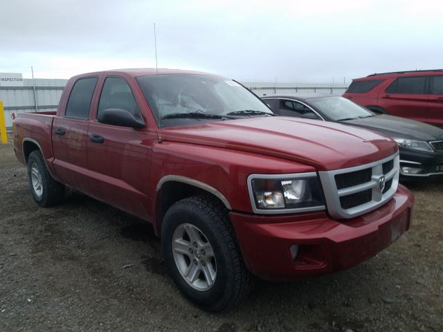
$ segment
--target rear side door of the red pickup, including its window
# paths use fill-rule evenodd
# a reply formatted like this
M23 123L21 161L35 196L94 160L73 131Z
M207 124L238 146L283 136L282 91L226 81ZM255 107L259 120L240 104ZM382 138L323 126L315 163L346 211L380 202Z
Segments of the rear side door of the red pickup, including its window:
M61 180L87 193L87 140L89 114L98 77L82 77L73 84L64 111L53 122L55 172Z

